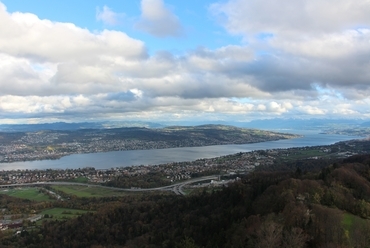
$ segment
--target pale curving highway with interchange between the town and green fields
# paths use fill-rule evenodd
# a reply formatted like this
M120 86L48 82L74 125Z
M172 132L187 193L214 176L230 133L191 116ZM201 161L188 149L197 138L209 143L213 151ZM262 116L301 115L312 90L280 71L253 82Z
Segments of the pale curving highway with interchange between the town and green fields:
M16 184L6 184L0 185L0 188L12 188L12 187L27 187L27 186L43 186L43 185L68 185L68 186L88 186L88 187L99 187L105 189L113 189L113 190L122 190L122 191L130 191L130 192L144 192L144 191L156 191L156 190L169 190L173 191L177 195L185 195L183 191L183 187L187 184L217 179L218 175L206 176L206 177L199 177L190 180L186 180L180 183L157 187L157 188L116 188L116 187L108 187L99 184L88 184L88 183L74 183L74 182L35 182L35 183L16 183Z

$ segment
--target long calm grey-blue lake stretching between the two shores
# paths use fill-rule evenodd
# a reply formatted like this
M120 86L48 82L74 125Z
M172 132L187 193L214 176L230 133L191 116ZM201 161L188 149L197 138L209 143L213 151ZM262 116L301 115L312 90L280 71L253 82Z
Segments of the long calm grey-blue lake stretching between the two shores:
M116 151L104 153L74 154L59 160L0 163L0 170L13 169L77 169L95 167L109 169L131 165L154 165L169 162L192 161L200 158L213 158L238 152L275 148L331 145L339 141L359 137L319 134L317 131L286 131L304 135L302 138L269 141L244 145L217 145L204 147L184 147L159 150Z

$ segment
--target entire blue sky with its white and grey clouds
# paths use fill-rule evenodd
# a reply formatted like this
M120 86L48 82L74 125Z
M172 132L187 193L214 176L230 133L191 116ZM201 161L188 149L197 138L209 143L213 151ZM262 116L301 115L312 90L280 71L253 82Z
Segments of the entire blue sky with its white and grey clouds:
M370 118L369 0L0 0L0 124Z

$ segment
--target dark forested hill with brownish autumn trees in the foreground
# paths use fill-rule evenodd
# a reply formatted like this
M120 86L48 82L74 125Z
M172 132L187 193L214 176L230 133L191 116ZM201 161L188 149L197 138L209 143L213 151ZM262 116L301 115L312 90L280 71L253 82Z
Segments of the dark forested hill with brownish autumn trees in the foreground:
M300 171L255 172L187 197L124 198L0 246L369 247L370 155Z

